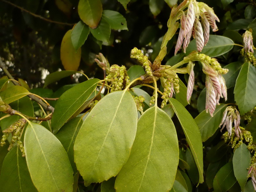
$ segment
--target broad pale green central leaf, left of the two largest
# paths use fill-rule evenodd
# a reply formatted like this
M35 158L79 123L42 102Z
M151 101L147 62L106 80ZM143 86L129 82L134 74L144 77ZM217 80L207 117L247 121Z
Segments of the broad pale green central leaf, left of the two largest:
M132 95L103 97L85 119L75 141L75 162L86 186L116 176L127 161L137 128Z

